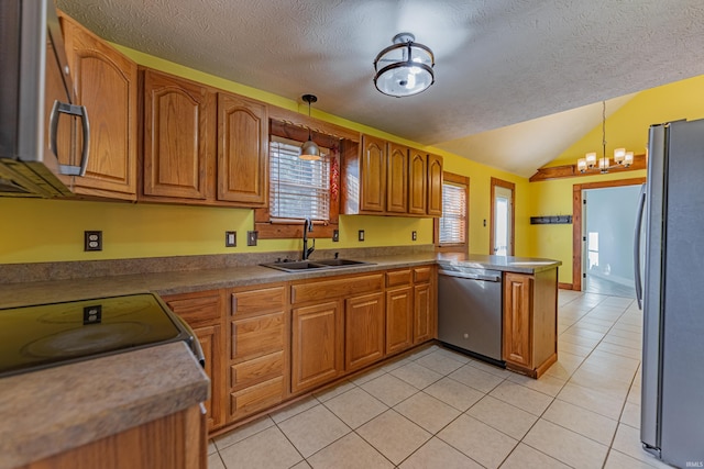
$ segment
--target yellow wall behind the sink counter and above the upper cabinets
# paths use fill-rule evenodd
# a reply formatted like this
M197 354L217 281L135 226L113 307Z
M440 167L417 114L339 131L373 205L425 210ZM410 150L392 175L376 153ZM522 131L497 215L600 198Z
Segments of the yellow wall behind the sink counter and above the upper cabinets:
M189 69L136 51L118 47L122 53L145 65L188 79L208 83L261 101L307 113L307 108L294 100L245 87L232 81ZM405 145L421 147L415 142L395 137L362 124L345 121L314 109L317 119L348 129L376 135ZM471 252L488 253L490 178L492 176L518 182L517 213L525 212L522 196L526 180L496 169L469 161L432 147L429 152L444 157L446 169L471 177L470 245ZM253 230L249 209L180 206L168 204L92 202L78 200L32 200L0 198L0 264L42 261L120 259L205 254L232 254L300 249L299 239L260 239L256 247L246 246L246 231ZM526 254L528 246L521 232L524 216L517 216L517 250ZM103 250L82 250L84 231L103 232ZM358 231L365 231L365 241L358 241ZM238 246L224 247L224 232L238 232ZM418 238L411 241L411 232ZM340 242L317 241L319 249L378 247L432 244L432 220L384 216L340 216Z

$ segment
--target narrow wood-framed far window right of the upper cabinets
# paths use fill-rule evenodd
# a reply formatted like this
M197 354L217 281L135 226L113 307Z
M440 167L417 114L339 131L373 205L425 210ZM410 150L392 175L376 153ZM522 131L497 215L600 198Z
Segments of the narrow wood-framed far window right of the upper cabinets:
M436 221L438 250L469 252L469 185L468 177L443 174L442 216Z

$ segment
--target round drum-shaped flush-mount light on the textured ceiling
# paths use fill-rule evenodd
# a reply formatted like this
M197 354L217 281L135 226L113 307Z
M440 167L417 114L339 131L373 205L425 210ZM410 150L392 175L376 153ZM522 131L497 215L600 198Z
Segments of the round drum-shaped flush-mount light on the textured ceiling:
M432 51L415 41L410 33L396 34L394 44L376 56L374 86L384 94L396 98L418 94L435 83Z

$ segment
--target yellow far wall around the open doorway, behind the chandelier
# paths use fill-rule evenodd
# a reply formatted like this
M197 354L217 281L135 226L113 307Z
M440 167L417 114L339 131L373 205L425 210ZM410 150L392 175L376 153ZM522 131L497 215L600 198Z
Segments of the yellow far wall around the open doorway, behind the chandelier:
M606 120L606 155L614 148L626 147L636 155L648 145L651 124L681 119L704 118L704 76L690 78L636 94ZM574 164L587 152L602 154L602 125L594 127L548 166ZM646 171L595 175L531 182L527 191L532 216L572 214L572 187L594 181L645 177ZM634 214L635 216L635 214ZM528 225L528 254L562 260L559 281L572 283L572 225Z

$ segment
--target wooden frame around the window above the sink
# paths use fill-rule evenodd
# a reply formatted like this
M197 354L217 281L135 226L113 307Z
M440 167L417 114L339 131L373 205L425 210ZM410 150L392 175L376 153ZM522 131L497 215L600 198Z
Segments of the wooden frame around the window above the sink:
M339 230L339 215L340 215L340 188L341 188L341 158L340 155L344 149L346 139L334 137L319 133L301 125L292 124L288 122L282 122L278 120L270 120L270 136L278 136L290 141L300 142L302 145L307 139L310 132L310 137L315 143L321 147L333 148L338 147L338 152L329 155L330 171L334 175L334 181L330 181L330 220L324 223L321 221L314 222L314 231L308 234L310 238L331 238L333 232ZM266 178L271 178L271 154L267 148L266 159L267 174ZM334 167L334 169L333 169ZM270 181L271 182L271 181ZM336 183L337 182L337 183ZM271 183L267 183L270 187ZM270 200L270 193L266 193L266 200ZM285 239L285 238L298 238L302 236L304 220L282 220L271 216L271 211L267 206L254 210L254 230L258 232L258 238L261 239Z

